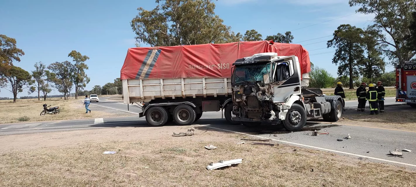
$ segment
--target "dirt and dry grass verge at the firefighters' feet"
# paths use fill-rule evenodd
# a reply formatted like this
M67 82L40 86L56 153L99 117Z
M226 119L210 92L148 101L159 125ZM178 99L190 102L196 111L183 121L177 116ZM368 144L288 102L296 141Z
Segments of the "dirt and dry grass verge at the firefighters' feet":
M416 131L416 110L414 108L402 105L389 106L384 109L386 112L380 113L379 115L369 115L369 108L366 108L365 112L348 110L344 114L345 120L342 123Z

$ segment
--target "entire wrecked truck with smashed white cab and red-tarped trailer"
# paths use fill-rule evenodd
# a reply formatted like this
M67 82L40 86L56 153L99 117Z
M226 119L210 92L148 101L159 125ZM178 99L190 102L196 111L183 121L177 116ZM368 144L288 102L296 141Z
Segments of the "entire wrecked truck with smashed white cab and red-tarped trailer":
M282 123L300 130L307 118L337 121L342 99L307 89L309 53L273 41L129 48L121 68L123 101L141 107L150 126L190 125L203 112L229 123Z

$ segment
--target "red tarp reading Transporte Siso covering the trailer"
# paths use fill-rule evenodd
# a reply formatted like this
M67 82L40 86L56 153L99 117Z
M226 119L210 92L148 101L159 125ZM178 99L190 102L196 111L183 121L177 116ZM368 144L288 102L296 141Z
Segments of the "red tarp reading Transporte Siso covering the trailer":
M120 79L229 78L236 59L264 52L295 55L302 74L310 72L309 53L300 44L255 41L129 48Z

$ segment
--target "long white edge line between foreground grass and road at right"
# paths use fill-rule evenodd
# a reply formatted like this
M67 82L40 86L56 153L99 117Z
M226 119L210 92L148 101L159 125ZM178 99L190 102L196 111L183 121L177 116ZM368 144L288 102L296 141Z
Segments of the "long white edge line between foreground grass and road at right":
M198 125L198 124L195 124ZM215 128L215 127L210 127L207 125L202 125L208 128ZM238 134L243 134L243 135L248 135L248 136L253 136L253 137L257 137L257 138L265 138L262 136L258 136L258 135L251 135L251 134L246 134L246 133L240 133L240 132L236 132L236 131L232 131L232 130L225 130L222 128L215 128L218 130L224 130L224 131L228 131L228 132L232 132L232 133L238 133ZM376 157L369 157L369 156L364 156L364 155L357 155L354 153L347 153L347 152L342 152L342 151L337 151L337 150L331 150L331 149L326 149L326 148L319 148L319 147L315 147L315 146L311 146L311 145L304 145L304 144L300 144L300 143L293 143L293 142L287 142L287 141L283 141L283 140L276 140L273 138L266 138L266 139L270 139L270 140L275 140L278 142L283 142L283 143L289 143L289 144L293 144L293 145L300 145L300 146L304 146L304 147L308 147L308 148L314 148L314 149L319 149L319 150L326 150L326 151L331 151L331 152L335 152L335 153L342 153L342 154L346 154L346 155L353 155L353 156L357 156L357 157L364 157L364 158L369 158L369 159L373 159L373 160L380 160L380 161L384 161L384 162L391 162L391 163L395 163L395 164L401 164L401 165L407 165L407 166L413 166L416 167L416 165L414 164L408 164L408 163L404 163L404 162L396 162L396 161L392 161L392 160L385 160L385 159L381 159L381 158L376 158Z

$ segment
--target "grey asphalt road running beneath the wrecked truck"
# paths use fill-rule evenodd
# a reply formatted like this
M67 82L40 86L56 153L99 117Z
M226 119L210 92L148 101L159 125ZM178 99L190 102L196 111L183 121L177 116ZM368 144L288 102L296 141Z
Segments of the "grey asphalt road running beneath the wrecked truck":
M391 98L386 99L386 105L393 104L393 101L394 99ZM351 109L355 109L357 105L357 101L347 101L346 103L347 108ZM102 98L99 103L93 103L93 105L96 105L97 107L102 106L114 108L122 111L127 110L127 106L125 104L109 101L105 98ZM397 110L397 108L408 107L409 106L386 107L386 112L389 110ZM139 113L141 111L140 108L134 106L130 106L129 109L129 112L131 113ZM389 157L387 155L389 150L394 149L409 149L416 151L416 139L414 138L416 132L411 131L388 130L382 128L369 128L355 125L339 125L320 121L310 121L307 123L307 126L302 129L302 131L292 133L285 131L281 125L265 125L255 129L247 128L243 125L228 125L225 119L221 119L221 112L206 112L200 120L195 122L195 124L204 125L203 127L197 127L199 130L230 130L237 133L245 133L247 135L273 138L280 141L280 143L313 148L317 150L326 150L341 155L349 155L357 158L357 162L359 161L358 159L363 159L375 162L389 162L395 165L416 168L415 152L404 152L403 158ZM169 123L167 125L175 124ZM147 124L144 118L138 118L138 116L15 123L0 125L0 135L111 127L146 128ZM322 133L328 132L329 135L310 136L314 130L319 130ZM352 139L344 139L348 133L352 136ZM337 139L342 139L343 141L337 141Z

